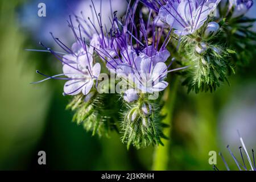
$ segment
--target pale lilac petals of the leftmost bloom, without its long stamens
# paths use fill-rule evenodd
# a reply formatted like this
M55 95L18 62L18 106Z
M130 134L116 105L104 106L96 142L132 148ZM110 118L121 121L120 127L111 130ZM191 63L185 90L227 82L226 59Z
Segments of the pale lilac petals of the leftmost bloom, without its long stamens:
M81 92L84 95L88 94L100 75L100 63L93 65L93 56L86 52L88 48L84 49L83 46L76 42L72 46L73 54L63 56L63 73L70 78L64 85L66 95L76 95Z

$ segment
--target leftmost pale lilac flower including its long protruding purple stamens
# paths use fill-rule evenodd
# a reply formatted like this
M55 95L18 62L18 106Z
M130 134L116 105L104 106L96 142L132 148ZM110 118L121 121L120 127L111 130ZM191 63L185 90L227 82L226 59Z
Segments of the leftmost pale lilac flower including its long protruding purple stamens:
M51 33L53 40L55 40L55 42L67 53L52 51L51 48L44 46L40 42L40 44L47 49L47 52L51 52L59 61L61 61L63 64L63 74L47 76L37 71L40 75L47 77L38 82L46 81L51 78L68 80L64 85L64 95L73 96L81 92L82 94L87 95L100 75L101 65L100 63L93 64L93 48L86 45L85 39L81 36L81 31L79 32L80 37L77 36L75 28L72 26L71 19L68 23L76 38L76 42L72 44L71 48L65 46L59 38L55 38ZM61 55L63 56L61 57ZM60 76L66 77L63 78Z

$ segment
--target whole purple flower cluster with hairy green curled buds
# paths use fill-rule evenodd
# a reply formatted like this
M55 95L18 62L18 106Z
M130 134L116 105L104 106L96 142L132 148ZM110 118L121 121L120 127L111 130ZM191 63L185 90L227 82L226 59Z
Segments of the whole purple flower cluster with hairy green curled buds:
M106 26L92 1L93 17L85 18L81 12L75 16L77 25L71 17L67 21L75 37L71 47L52 33L64 52L40 43L61 61L63 73L47 76L37 71L47 77L39 82L67 80L63 94L73 98L67 108L76 111L74 121L93 135L108 135L115 129L122 131L127 147L162 144L166 126L159 103L162 91L171 85L168 73L179 71L188 90L199 92L216 89L233 71L228 57L235 51L217 41L226 23L225 18L214 16L218 3L220 0L130 1L126 14L118 18L112 12L110 26ZM245 13L236 13L242 5L249 9L252 2L230 2L233 16ZM117 86L121 91L112 92Z

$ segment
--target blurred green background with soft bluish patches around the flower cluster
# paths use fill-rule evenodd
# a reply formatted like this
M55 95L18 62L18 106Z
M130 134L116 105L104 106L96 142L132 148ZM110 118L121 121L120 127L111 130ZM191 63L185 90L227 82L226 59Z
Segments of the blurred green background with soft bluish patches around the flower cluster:
M46 18L37 15L39 2L46 2ZM65 20L60 19L66 10L67 4L60 6L60 1L0 1L1 170L212 170L209 151L222 151L229 166L236 169L225 147L230 144L239 154L237 129L247 149L256 149L255 60L237 69L236 75L230 77L230 86L225 83L212 94L187 94L181 82L177 82L176 101L171 104L172 126L167 131L171 138L166 141L165 153L155 156L154 147L127 151L117 133L110 138L91 137L71 122L73 113L65 110L70 98L62 95L63 81L30 84L42 79L36 75L36 69L48 75L61 71L61 64L51 54L25 49L40 48L39 40L51 42L42 32L48 30L46 27L51 29L48 22L59 23L55 31L67 27ZM50 37L48 32L47 35ZM46 166L37 163L40 150L46 151ZM156 164L155 160L163 160L163 164ZM157 165L160 166L156 168ZM217 166L224 169L219 156Z

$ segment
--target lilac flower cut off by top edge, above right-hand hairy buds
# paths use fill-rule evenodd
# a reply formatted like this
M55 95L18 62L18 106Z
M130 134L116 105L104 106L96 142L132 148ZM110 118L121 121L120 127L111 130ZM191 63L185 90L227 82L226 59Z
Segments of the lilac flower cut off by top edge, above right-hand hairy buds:
M220 0L181 0L160 1L159 17L175 29L177 35L193 34L207 20L208 15L216 8Z

